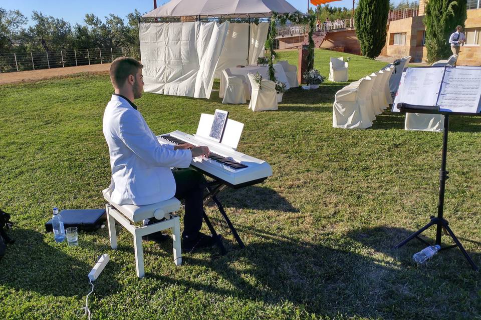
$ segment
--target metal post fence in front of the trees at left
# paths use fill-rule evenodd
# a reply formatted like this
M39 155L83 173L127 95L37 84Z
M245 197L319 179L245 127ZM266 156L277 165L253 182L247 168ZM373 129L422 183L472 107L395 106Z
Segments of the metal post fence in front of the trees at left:
M140 58L140 48L90 48L43 52L0 53L0 73L110 63L119 56Z

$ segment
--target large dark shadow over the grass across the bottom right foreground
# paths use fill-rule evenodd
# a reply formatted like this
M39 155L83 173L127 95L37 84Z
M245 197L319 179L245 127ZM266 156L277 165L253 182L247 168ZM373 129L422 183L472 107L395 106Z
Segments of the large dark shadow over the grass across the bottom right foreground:
M413 266L411 256L423 244L411 241L400 249L392 248L410 230L365 228L340 238L327 232L316 242L252 227L238 230L241 236L251 234L257 240L247 243L243 250L229 242L225 256L219 256L212 248L210 252L215 258L197 258L187 253L183 260L187 265L217 273L230 285L218 287L201 281L172 279L158 272L149 272L147 276L266 304L292 302L296 308L330 316L340 313L353 317L453 318L458 314L469 318L469 311L461 309L462 303L456 304L458 309L443 304L428 287L439 287L442 283L443 292L439 294L444 294L444 299L453 298L462 294L466 277L475 278L478 273L470 269L457 249L437 254L422 267ZM357 253L360 248L364 248L363 253ZM164 249L166 252L161 255L170 254L170 245ZM470 254L475 261L479 260L478 253Z

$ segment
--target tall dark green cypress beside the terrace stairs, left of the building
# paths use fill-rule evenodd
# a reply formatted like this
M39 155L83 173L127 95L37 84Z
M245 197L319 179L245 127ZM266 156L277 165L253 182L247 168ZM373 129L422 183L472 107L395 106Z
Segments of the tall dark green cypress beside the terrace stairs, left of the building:
M389 0L359 0L354 13L361 54L375 58L386 43Z

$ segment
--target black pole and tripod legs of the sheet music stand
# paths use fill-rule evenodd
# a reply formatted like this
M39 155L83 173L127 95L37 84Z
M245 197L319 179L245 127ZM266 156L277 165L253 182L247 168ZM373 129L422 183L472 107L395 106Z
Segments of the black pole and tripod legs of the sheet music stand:
M450 249L450 248L453 248L453 247L456 247L456 246L459 247L462 254L464 254L464 257L466 258L466 260L469 262L469 264L471 264L471 267L474 270L477 271L478 268L477 268L476 264L474 264L471 257L469 256L469 254L467 254L466 250L464 250L464 247L462 246L461 242L459 242L456 235L454 234L454 232L449 227L449 222L447 222L447 220L444 219L443 216L442 216L443 210L444 210L444 186L445 186L446 180L448 178L447 174L449 173L448 171L446 171L446 153L447 153L448 128L449 128L449 115L445 114L444 115L443 138L442 138L441 169L439 170L439 200L438 200L438 203L437 203L437 217L435 217L434 215L431 215L431 221L428 224L424 225L422 228L420 228L419 230L417 230L416 232L414 232L413 234L408 236L402 242L397 244L394 248L399 248L399 247L403 246L404 244L406 244L407 242L409 242L413 238L416 238L423 243L429 244L427 241L424 241L423 239L421 239L419 237L419 234L421 234L425 229L429 228L431 225L435 224L436 225L436 243L435 244L438 244L439 246L441 246L442 229L444 229L445 231L447 231L448 235L450 235L452 237L452 239L454 240L454 243L456 243L456 244L441 247L441 250Z

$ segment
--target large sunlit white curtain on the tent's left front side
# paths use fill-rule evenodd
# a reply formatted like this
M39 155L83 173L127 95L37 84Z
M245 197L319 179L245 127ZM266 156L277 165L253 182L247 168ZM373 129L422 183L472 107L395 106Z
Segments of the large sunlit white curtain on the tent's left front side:
M144 91L209 98L229 22L140 23Z

